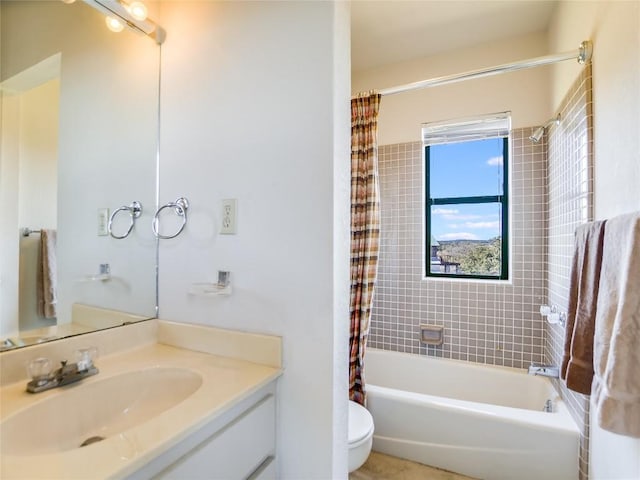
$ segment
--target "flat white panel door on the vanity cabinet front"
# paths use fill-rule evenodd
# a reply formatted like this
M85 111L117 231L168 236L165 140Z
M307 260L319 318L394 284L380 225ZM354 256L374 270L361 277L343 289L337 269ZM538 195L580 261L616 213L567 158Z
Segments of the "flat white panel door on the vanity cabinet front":
M275 402L268 395L155 478L243 480L274 455Z

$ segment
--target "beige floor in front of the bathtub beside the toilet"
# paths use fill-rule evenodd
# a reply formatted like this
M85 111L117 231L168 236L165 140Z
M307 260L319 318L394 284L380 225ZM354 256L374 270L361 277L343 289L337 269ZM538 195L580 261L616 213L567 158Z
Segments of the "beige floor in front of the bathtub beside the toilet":
M366 463L349 474L349 480L473 480L471 477L428 467L402 458L371 452Z

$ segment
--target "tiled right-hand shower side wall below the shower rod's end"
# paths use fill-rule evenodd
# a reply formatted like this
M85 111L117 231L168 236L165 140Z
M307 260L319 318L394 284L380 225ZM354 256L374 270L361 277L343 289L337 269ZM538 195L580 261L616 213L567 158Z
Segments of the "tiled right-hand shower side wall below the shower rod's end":
M593 117L591 67L583 69L567 93L560 109L560 125L548 135L548 301L566 312L569 304L569 276L573 255L573 233L593 220ZM560 365L564 349L564 328L549 325L545 360ZM563 382L556 388L582 431L580 479L588 478L589 397L568 390Z

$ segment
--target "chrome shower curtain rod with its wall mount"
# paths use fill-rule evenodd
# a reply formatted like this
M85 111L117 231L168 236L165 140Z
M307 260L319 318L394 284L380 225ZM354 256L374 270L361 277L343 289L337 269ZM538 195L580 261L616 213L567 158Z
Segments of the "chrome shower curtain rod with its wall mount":
M407 83L397 87L385 88L379 90L380 95L395 95L396 93L409 92L420 88L437 87L440 85L448 85L450 83L463 82L473 78L489 77L499 73L515 72L516 70L524 70L525 68L540 67L542 65L550 65L552 63L563 62L565 60L576 59L578 63L584 64L591 60L593 53L593 45L590 40L585 40L580 44L578 50L571 52L556 53L554 55L545 55L544 57L531 58L529 60L521 60L519 62L505 63L495 67L480 68L464 73L456 73L453 75L445 75L443 77L430 78L419 82Z

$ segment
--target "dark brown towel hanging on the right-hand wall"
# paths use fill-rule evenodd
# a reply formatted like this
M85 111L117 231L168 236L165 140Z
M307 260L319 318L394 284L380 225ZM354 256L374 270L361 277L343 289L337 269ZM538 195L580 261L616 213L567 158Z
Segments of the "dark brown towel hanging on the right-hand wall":
M560 374L567 388L585 395L591 393L593 380L593 335L604 230L604 221L587 223L576 229L571 265L569 311Z

